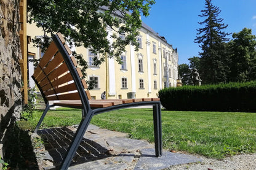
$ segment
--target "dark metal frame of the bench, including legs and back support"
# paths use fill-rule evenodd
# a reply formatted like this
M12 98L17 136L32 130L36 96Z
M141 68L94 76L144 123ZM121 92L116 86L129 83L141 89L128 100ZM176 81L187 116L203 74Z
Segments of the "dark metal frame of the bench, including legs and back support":
M62 161L62 165L60 169L68 169L70 166L71 160L73 156L76 153L76 150L79 147L79 144L82 140L82 137L84 136L84 133L86 133L86 129L90 123L90 120L94 115L102 114L104 112L109 112L111 110L117 110L117 109L123 109L127 107L135 107L135 106L153 106L153 124L154 124L154 144L155 144L155 154L156 156L162 155L162 126L161 126L161 103L160 101L142 101L142 102L132 102L127 104L119 104L114 105L110 107L104 107L104 108L97 108L92 109L89 104L89 100L87 98L86 91L84 90L84 87L81 83L81 79L78 75L78 72L76 72L76 69L74 68L74 64L71 61L70 55L66 52L66 49L64 45L62 44L60 38L55 34L53 37L53 41L55 42L55 45L58 48L58 52L61 53L63 56L63 59L68 66L68 70L70 71L74 83L76 84L76 88L78 90L79 96L81 98L82 107L76 107L72 106L72 104L69 106L66 104L65 107L73 107L73 108L80 108L82 109L82 120L79 123L78 129L76 133L74 134L73 141L71 142L71 145L68 149L68 152L66 153L66 156L64 160ZM34 77L33 77L34 79ZM34 82L38 85L38 82L34 79ZM43 92L40 86L38 85L39 90L41 93ZM39 126L42 123L42 120L46 116L47 111L50 109L50 107L58 106L56 103L53 105L49 104L49 101L47 101L46 97L44 96L44 93L42 93L42 96L44 98L44 101L46 102L46 109L44 110L38 125L36 126L35 131L39 129Z

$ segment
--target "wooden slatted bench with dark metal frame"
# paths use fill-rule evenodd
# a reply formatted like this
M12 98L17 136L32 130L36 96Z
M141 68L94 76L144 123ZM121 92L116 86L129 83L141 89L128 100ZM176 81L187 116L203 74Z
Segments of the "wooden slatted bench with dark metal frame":
M65 44L62 35L59 33L55 34L53 41L47 48L46 53L44 53L32 76L46 102L46 109L42 113L35 131L38 131L50 107L63 106L82 110L81 122L62 161L61 169L68 169L68 166L70 166L71 160L78 149L92 116L126 107L153 106L155 153L156 156L161 156L162 129L161 103L159 98L91 99L86 81L81 79L82 72L78 68L78 63L76 63L74 56L70 55L71 50ZM50 105L49 101L54 101L54 104Z

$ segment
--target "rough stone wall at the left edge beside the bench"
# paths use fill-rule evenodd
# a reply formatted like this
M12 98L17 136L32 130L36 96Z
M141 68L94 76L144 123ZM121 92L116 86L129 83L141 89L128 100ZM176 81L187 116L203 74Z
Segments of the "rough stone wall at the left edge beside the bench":
M22 77L19 59L19 0L0 0L0 142L6 144L6 134L20 118ZM2 155L2 153L0 153Z

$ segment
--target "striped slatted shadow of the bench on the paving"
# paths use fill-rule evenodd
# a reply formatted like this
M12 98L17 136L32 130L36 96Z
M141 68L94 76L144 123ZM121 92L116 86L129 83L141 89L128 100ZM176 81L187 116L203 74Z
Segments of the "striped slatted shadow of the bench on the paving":
M50 160L54 166L59 167L66 155L68 146L74 137L74 131L69 128L50 128L38 131L44 142L44 147L48 153L44 154L44 160ZM82 141L76 150L76 154L71 161L70 166L75 164L86 163L89 161L100 160L112 156L109 151L89 139L82 138Z

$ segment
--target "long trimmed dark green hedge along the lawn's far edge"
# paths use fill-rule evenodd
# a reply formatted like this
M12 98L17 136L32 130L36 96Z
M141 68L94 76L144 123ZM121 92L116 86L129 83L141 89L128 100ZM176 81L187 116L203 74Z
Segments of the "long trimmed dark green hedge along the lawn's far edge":
M159 98L167 110L256 112L256 81L164 88Z

